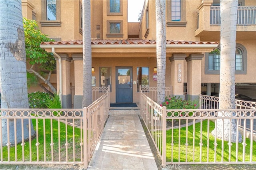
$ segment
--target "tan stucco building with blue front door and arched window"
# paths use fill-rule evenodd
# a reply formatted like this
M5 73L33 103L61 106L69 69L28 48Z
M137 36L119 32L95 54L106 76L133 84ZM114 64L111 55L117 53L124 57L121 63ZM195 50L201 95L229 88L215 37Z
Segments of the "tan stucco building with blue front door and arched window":
M194 99L201 91L218 92L219 4L166 0L166 86L173 95L187 92ZM92 86L110 85L111 103L138 103L139 85L157 86L155 1L145 1L139 23L128 23L127 6L127 0L91 0ZM63 107L81 108L82 2L22 0L22 12L56 40L41 47L56 57L52 82L61 89ZM236 93L256 98L256 1L239 1L236 47Z

